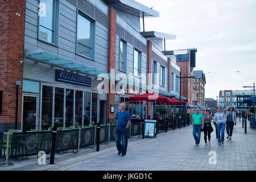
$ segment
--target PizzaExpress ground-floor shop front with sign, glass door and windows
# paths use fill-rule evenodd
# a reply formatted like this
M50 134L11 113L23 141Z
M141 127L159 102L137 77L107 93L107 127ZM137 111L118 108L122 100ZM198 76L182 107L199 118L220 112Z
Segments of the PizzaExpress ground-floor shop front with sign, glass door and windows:
M106 123L106 94L96 76L24 59L22 131Z

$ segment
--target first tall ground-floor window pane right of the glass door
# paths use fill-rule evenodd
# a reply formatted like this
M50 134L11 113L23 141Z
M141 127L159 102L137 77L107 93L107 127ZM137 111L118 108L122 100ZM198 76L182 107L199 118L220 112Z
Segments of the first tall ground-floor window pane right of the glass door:
M52 126L52 100L53 87L43 85L42 95L42 130L48 130Z

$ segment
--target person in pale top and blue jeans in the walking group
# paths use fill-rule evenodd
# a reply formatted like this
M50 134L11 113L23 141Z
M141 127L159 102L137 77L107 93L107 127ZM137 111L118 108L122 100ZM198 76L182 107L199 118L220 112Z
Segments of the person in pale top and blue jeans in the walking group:
M217 113L214 114L213 121L216 123L217 133L218 133L218 145L224 144L224 133L226 126L226 116L221 107L218 106Z

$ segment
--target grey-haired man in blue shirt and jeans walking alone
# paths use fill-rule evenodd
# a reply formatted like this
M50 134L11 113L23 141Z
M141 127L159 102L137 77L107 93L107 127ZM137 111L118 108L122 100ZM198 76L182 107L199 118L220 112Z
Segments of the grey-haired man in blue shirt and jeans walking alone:
M115 130L115 144L117 144L118 155L122 153L122 156L126 155L128 144L128 128L131 123L130 113L125 110L125 104L119 105L120 111L117 113L117 128ZM121 145L122 135L122 145Z

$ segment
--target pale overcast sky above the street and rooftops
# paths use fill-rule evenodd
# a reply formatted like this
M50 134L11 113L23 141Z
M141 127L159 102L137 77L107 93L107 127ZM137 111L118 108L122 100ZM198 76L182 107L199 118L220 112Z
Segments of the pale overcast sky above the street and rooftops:
M176 35L166 50L197 48L194 70L205 73L205 98L256 82L256 0L136 1L159 12L145 18L145 31Z

